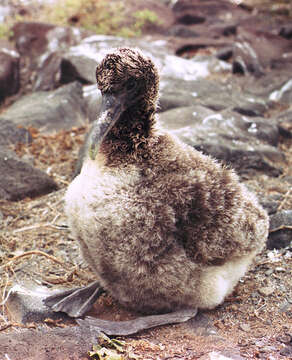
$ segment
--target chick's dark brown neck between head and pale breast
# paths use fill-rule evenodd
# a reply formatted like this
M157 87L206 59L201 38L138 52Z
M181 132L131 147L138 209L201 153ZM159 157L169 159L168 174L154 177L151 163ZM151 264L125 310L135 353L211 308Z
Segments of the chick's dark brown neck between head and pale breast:
M140 104L121 115L100 147L108 165L147 158L155 110L154 106Z

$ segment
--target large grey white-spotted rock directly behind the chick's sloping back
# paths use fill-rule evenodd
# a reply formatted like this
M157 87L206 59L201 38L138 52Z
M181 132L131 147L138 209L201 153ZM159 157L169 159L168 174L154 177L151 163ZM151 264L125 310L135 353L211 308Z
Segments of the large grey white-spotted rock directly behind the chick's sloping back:
M189 106L161 113L159 122L182 141L232 164L240 173L250 169L273 176L280 173L283 156L272 146L277 142L277 128L263 119Z

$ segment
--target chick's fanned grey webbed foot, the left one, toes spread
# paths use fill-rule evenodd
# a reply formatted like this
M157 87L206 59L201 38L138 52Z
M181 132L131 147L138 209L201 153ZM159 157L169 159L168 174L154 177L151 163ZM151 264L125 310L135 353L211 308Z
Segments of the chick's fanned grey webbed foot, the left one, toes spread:
M70 317L83 316L95 301L104 293L99 283L94 283L77 289L61 291L44 299L44 304L55 312L64 312Z

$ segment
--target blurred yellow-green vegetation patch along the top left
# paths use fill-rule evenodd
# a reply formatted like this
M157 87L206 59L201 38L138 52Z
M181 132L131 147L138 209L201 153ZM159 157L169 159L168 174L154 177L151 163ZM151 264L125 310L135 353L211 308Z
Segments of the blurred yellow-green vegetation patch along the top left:
M123 37L140 36L150 25L159 24L158 16L149 9L129 14L123 0L61 0L36 6L34 13L9 19L0 24L0 38L9 38L17 21L40 21L60 26L78 26L96 34Z

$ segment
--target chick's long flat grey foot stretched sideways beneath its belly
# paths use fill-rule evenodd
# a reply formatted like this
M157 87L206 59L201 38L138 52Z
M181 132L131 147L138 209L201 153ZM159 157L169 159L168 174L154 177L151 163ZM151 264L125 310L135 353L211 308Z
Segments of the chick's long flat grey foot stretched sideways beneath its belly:
M92 326L107 335L131 335L138 331L155 326L182 323L196 316L197 309L184 309L162 315L138 317L128 321L108 321L87 316L84 320L78 319L81 326Z

